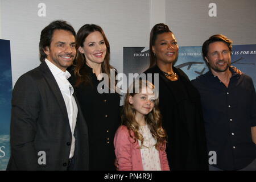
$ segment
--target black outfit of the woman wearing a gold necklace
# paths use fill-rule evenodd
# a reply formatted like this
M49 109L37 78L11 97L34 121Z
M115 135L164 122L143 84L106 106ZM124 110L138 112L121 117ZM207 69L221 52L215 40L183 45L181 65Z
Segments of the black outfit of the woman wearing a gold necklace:
M173 69L179 76L177 81L168 80L156 65L144 72L159 73L159 106L163 127L168 135L167 158L170 168L208 170L199 92L181 69Z

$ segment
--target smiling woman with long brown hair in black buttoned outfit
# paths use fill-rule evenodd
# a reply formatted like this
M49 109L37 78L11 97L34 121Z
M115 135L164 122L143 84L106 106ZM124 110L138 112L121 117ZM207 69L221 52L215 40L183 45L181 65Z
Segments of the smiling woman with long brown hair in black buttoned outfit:
M110 78L110 47L101 27L85 24L76 35L77 59L71 82L89 133L89 170L115 170L113 139L119 126L119 94L98 84ZM108 92L102 93L102 90Z

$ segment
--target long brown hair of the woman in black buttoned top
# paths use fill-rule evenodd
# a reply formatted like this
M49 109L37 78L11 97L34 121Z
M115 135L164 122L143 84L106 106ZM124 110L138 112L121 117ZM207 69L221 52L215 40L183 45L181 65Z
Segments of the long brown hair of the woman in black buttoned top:
M89 72L86 70L85 64L86 64L86 58L84 53L81 53L78 51L79 47L84 47L84 41L86 37L92 33L98 31L102 34L104 38L104 42L106 44L106 56L101 64L101 72L106 73L109 78L110 78L110 69L113 67L109 64L110 60L110 46L109 46L109 41L106 38L104 31L100 26L97 26L96 24L85 24L82 26L79 31L77 32L76 35L76 48L77 48L77 53L76 53L76 60L74 63L75 66L75 76L77 77L76 84L75 86L79 86L82 82L85 84L90 84L92 83L91 78L89 76Z

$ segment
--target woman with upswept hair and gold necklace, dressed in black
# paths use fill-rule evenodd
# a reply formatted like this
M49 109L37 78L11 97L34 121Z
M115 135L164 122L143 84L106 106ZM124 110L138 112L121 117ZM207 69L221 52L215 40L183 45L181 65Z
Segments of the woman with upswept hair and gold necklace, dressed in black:
M150 32L150 68L144 73L159 73L159 104L168 136L170 169L208 170L200 94L188 76L174 67L178 53L168 26L156 24Z

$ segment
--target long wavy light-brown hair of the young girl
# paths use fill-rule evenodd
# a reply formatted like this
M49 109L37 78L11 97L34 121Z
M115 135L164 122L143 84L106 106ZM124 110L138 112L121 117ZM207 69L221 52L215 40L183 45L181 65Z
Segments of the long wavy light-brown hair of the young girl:
M138 85L138 84L139 85ZM134 96L137 93L142 92L142 88L146 86L147 89L154 90L154 85L149 81L135 80L133 84L130 85L128 92L125 96L125 103L122 110L122 125L125 125L130 132L130 137L134 139L134 142L141 140L141 147L143 146L144 138L141 133L139 133L139 124L135 119L136 110L133 105L129 102L129 96ZM156 139L155 148L157 150L163 150L163 146L166 143L166 131L162 128L162 116L159 110L159 98L158 93L155 92L154 108L150 113L145 115L146 123L150 129L152 136ZM131 135L134 133L134 137Z

